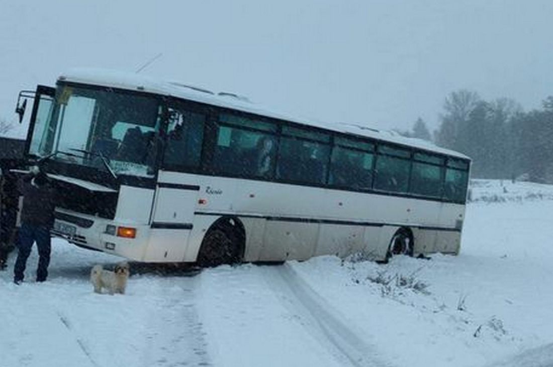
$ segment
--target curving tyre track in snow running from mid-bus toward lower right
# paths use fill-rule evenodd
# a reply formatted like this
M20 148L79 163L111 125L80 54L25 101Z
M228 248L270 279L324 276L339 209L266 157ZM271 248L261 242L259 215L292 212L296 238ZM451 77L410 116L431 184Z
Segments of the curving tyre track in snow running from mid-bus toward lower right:
M354 367L393 366L379 359L376 348L361 337L362 333L357 332L288 263L265 267L264 275L273 290L281 294L283 303L308 321L302 323L304 327L309 328L319 342L332 348L338 358Z

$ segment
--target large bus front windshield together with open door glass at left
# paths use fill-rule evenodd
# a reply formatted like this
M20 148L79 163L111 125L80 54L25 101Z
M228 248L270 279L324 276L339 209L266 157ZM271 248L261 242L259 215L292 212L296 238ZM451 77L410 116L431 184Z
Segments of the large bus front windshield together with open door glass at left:
M48 116L36 120L29 153L58 152L50 159L152 177L160 116L155 97L59 85Z

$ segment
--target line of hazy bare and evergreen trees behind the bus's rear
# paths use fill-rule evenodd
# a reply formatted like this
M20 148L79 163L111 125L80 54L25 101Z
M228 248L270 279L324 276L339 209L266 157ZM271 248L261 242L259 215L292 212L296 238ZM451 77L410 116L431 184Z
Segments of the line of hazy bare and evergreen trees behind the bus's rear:
M553 183L553 97L524 112L514 100L484 101L459 90L446 97L439 120L432 135L421 118L400 133L471 157L473 178Z

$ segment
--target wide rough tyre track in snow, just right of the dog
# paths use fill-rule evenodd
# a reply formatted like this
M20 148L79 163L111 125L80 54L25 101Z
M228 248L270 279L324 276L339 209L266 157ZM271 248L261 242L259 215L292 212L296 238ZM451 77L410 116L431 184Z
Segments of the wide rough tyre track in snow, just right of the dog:
M203 325L196 311L199 277L159 281L158 314L147 325L143 366L210 366Z

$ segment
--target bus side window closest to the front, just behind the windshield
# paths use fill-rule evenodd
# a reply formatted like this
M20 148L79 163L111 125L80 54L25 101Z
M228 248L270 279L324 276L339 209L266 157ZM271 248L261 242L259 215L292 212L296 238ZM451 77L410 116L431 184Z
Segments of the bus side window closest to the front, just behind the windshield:
M167 132L164 167L197 167L204 138L205 115L173 110Z

